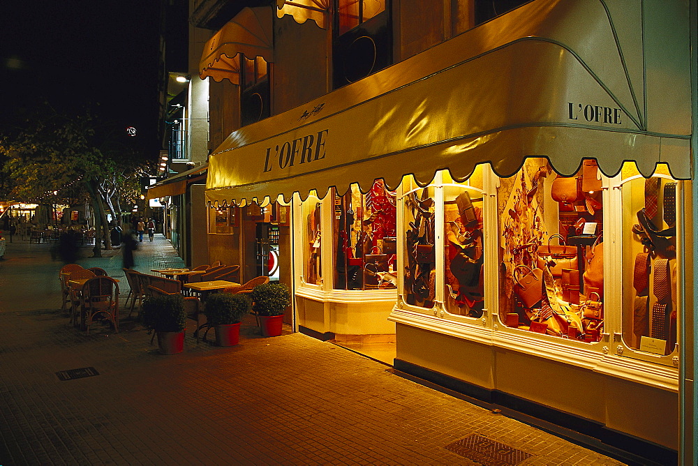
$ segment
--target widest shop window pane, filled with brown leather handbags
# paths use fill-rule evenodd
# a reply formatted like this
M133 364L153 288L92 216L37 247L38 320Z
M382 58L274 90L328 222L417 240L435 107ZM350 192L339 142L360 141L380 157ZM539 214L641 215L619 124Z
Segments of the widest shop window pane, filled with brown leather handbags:
M603 203L595 160L558 176L528 158L500 179L500 320L587 343L604 329Z

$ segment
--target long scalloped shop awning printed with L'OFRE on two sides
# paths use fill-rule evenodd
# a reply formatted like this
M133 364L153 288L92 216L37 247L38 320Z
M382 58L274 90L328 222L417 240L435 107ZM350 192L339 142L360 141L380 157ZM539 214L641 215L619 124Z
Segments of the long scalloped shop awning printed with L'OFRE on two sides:
M207 200L466 179L480 163L510 176L529 156L565 175L593 157L609 176L636 160L690 179L688 9L635 3L533 1L241 128L209 157Z

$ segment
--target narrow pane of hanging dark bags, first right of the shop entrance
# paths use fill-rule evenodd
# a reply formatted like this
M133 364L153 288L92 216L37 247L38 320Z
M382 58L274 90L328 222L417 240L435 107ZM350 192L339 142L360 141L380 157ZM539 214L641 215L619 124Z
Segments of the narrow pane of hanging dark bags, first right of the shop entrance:
M419 188L411 177L403 179L405 231L405 301L412 306L433 308L436 299L436 250L434 187Z

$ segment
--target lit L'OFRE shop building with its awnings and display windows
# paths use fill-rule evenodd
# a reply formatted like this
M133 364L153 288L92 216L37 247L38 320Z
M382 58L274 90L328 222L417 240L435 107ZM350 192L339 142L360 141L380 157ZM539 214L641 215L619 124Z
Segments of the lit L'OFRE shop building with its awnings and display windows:
M693 464L695 19L688 0L195 2L209 260L288 283L299 331Z

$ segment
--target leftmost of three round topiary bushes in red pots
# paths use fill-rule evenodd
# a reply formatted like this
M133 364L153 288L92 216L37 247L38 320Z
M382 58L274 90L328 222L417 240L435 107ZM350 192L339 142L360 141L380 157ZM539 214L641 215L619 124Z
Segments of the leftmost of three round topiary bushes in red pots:
M184 296L165 294L148 296L143 301L143 324L158 336L158 347L162 354L177 354L184 351L184 327L186 312ZM151 343L153 340L150 340Z

